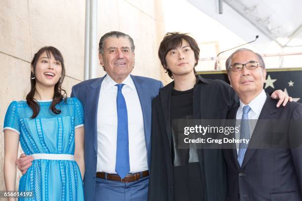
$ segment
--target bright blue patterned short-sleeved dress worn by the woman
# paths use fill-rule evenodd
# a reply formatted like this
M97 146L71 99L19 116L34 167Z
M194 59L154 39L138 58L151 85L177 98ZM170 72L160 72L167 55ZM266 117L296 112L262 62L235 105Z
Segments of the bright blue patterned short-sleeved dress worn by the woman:
M39 101L40 111L34 119L25 100L10 103L4 130L20 134L20 144L26 155L75 153L75 129L83 126L83 106L76 98L62 100L56 105L61 110L54 114L51 101ZM35 201L83 201L83 183L76 161L34 160L21 177L19 191L33 191Z

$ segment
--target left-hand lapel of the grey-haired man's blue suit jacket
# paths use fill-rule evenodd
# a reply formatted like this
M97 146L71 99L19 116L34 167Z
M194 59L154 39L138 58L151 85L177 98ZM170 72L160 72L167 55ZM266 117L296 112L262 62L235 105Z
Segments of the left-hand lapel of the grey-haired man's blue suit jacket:
M105 75L106 76L106 75ZM104 77L105 77L104 76ZM90 120L86 122L89 133L91 133L91 142L95 152L97 153L97 112L98 112L98 103L100 97L101 84L104 80L104 77L97 79L90 85L87 85L87 98L86 98L86 110L85 116L86 120ZM89 134L88 133L88 134Z

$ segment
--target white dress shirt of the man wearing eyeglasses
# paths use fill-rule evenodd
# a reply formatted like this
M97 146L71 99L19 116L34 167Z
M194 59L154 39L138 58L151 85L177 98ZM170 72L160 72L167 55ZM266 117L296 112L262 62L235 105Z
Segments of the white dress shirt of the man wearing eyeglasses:
M263 105L265 103L265 100L266 100L266 94L265 94L264 90L262 90L262 92L248 104L251 108L250 112L248 113L250 138L252 137L252 134L254 132L257 120L259 118L259 115L260 115ZM236 121L237 127L241 123L243 107L245 106L245 104L241 100L239 100L239 101L240 101L240 106L238 107L237 113L236 113L236 120L238 120L238 121ZM236 139L240 139L240 130L239 130L239 133L236 134ZM236 146L237 146L237 154L238 154L239 143L237 143Z

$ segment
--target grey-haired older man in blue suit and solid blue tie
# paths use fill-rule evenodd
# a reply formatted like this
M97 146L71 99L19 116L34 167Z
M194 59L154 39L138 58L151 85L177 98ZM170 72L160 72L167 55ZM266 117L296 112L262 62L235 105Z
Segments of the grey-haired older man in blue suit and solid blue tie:
M151 149L151 100L163 85L130 75L133 39L106 33L99 60L107 74L75 85L72 96L84 106L85 199L147 200Z

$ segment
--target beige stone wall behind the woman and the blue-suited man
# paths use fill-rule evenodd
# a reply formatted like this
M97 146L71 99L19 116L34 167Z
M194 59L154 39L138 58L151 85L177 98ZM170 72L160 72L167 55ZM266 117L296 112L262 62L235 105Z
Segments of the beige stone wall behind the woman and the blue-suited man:
M117 30L135 42L133 74L170 81L157 57L164 35L161 0L98 0L98 37ZM0 128L12 100L25 99L30 88L30 62L39 48L52 45L64 57L64 88L83 80L85 0L0 0ZM96 58L97 60L97 58ZM98 76L104 75L102 67ZM19 154L22 150L19 150ZM4 143L0 133L0 190ZM17 181L20 178L17 172ZM18 187L18 182L16 184Z

